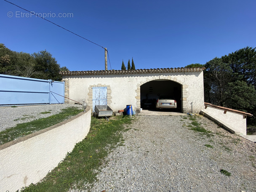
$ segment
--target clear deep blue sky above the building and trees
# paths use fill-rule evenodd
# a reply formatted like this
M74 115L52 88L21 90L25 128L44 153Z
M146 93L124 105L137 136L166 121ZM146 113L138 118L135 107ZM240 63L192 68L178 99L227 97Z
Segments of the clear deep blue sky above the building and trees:
M108 69L132 57L136 69L185 67L256 47L255 0L9 1L106 47ZM103 48L25 13L0 0L0 43L49 51L70 71L104 70Z

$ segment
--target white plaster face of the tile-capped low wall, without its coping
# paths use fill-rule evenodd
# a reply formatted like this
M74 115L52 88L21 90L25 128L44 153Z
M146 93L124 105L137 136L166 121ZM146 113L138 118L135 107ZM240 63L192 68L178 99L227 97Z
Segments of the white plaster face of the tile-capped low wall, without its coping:
M246 135L246 118L244 118L243 114L230 111L227 111L226 114L224 114L224 109L209 106L207 106L206 109L203 109L203 111L208 112L209 115L212 115L216 119L229 124L231 128L235 128L243 135Z

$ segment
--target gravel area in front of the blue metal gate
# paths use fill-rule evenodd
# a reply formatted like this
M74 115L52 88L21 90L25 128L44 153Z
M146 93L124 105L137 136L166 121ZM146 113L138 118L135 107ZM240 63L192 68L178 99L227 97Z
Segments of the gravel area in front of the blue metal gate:
M81 107L78 104L51 104L19 107L0 107L0 131L14 127L18 123L49 117L68 107ZM81 107L82 109L82 107ZM50 112L42 114L42 112Z

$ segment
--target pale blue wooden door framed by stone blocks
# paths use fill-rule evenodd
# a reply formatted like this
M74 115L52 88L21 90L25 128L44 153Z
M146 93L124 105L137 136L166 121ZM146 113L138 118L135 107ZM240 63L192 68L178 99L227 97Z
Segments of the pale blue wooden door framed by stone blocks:
M107 105L107 87L93 87L93 112L95 105Z

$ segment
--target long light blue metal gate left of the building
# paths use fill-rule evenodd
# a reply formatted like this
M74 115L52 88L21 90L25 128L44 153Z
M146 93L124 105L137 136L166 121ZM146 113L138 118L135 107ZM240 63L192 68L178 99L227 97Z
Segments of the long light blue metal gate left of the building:
M53 82L52 85L51 82L51 80L0 75L0 106L64 103L64 97L51 99L50 92L56 91L64 96L64 82Z

